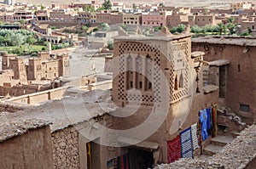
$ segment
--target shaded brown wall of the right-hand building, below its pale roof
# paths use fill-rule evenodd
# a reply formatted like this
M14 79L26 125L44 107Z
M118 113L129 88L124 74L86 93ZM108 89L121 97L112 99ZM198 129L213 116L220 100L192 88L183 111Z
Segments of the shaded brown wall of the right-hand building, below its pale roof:
M226 106L243 116L248 123L252 123L252 119L256 119L256 95L253 94L256 92L256 48L247 48L246 53L243 53L244 46L192 42L192 51L205 52L204 59L207 61L230 60L227 68ZM250 105L249 112L240 111L240 104Z

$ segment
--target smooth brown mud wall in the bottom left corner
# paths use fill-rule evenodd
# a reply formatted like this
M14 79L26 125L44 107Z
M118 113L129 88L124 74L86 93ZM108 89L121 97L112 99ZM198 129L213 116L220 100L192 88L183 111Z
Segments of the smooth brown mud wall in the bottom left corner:
M49 126L0 143L1 168L52 168L52 145Z

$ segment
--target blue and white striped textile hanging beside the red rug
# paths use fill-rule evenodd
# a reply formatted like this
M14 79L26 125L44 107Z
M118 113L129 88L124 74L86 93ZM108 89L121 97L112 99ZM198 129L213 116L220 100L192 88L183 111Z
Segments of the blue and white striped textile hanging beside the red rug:
M191 127L180 132L181 157L193 158L192 134Z

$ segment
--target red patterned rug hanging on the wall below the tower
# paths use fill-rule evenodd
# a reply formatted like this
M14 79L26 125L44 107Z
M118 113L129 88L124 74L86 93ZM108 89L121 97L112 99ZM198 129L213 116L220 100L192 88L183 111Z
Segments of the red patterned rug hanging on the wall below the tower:
M180 136L178 135L176 138L173 138L172 141L167 141L167 149L168 149L168 162L172 163L180 159L181 151L180 151Z

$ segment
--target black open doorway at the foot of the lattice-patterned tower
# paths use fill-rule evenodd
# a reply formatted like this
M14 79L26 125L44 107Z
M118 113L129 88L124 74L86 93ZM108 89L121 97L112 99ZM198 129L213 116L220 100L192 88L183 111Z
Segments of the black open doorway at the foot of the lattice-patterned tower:
M154 157L150 151L141 149L130 149L130 168L132 169L148 169L153 168Z

